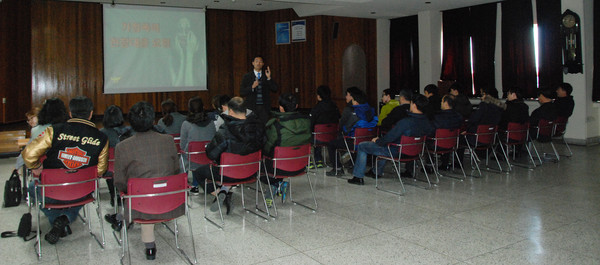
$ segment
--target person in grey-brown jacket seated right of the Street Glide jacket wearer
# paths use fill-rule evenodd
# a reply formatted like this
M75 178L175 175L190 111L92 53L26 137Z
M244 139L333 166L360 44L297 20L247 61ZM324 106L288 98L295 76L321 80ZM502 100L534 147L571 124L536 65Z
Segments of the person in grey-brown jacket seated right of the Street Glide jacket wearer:
M179 172L179 160L173 137L152 130L154 108L148 102L134 104L128 113L129 124L135 135L123 140L115 148L115 186L120 192L127 192L127 182L132 178L156 178L175 175ZM128 207L128 204L125 204ZM171 219L185 212L185 205L166 214L145 214L132 212L132 219ZM120 231L123 220L128 216L107 214L104 216L114 230ZM142 224L142 242L146 259L156 257L154 224Z

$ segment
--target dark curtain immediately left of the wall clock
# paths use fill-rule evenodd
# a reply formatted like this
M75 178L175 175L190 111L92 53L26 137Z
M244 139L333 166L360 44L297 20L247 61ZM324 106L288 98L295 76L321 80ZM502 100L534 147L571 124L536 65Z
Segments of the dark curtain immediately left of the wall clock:
M554 89L563 82L560 0L538 0L536 5L540 87Z

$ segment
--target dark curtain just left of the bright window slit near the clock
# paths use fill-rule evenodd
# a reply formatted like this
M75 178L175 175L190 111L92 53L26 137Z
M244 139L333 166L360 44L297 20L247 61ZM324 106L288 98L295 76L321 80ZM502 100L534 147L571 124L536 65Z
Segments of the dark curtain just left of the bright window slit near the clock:
M537 97L531 1L502 5L502 91L516 86L523 97Z

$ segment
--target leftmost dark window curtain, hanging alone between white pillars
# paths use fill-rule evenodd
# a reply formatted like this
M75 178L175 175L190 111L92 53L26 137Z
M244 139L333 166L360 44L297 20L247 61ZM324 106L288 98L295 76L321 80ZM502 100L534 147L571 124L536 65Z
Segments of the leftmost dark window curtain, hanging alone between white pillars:
M390 23L390 88L419 91L419 20L417 16Z

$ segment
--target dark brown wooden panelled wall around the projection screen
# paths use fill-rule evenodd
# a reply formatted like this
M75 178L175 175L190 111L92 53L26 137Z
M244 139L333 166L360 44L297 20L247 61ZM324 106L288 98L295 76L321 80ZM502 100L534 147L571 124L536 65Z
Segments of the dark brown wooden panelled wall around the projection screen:
M57 19L60 18L60 19ZM34 0L32 4L32 92L34 105L59 96L67 100L76 95L91 97L96 114L116 104L125 111L140 100L152 103L173 99L180 110L187 100L200 96L207 107L217 94L239 95L244 73L251 60L262 55L271 67L280 92L299 89L300 107L315 104L318 85L328 84L343 106L343 51L350 44L360 45L367 54L368 94L376 95L375 21L370 19L315 16L307 22L307 41L275 45L275 22L299 19L291 9L269 12L208 10L207 61L209 91L136 94L103 94L102 6L99 4ZM340 24L337 39L332 39L333 22Z

